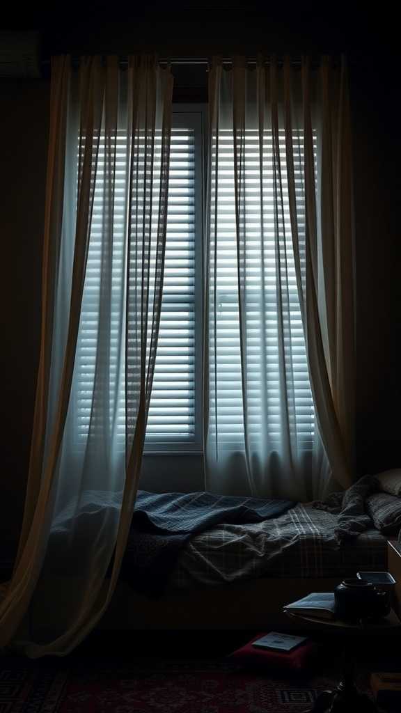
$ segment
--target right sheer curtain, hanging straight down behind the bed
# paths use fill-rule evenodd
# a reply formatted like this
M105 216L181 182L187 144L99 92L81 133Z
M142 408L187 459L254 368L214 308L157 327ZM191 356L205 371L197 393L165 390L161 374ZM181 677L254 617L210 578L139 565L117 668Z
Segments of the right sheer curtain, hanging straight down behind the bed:
M352 480L352 190L345 66L215 58L205 480L320 498Z

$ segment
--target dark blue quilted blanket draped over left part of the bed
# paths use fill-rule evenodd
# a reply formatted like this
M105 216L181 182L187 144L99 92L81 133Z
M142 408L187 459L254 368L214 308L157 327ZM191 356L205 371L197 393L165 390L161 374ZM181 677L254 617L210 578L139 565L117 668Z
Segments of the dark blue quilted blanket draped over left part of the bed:
M105 511L116 533L122 493L86 491L71 500L54 520L49 538L52 573L79 574L90 564L92 543L99 542ZM180 551L197 533L220 523L258 523L275 518L295 505L277 498L219 496L213 493L148 493L138 491L121 578L147 595L160 595ZM79 551L80 557L76 558ZM110 563L108 574L111 573Z

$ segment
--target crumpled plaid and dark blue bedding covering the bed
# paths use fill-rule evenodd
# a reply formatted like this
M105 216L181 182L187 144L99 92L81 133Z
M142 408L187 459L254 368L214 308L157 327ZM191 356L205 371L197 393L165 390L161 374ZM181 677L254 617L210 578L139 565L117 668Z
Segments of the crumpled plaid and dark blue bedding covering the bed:
M298 504L139 491L121 576L134 588L155 594L169 578L173 587L181 588L260 576L355 576L358 569L385 569L386 540L365 510L367 497L378 490L375 476L365 476L325 502ZM78 530L85 537L96 535L96 515L106 502L118 521L122 493L115 503L103 495L86 493L76 520L82 520ZM198 513L191 513L196 503ZM253 514L249 506L256 508ZM77 518L75 508L66 508L54 523L51 540L58 554L66 543L69 518ZM57 560L66 572L68 548L64 554Z

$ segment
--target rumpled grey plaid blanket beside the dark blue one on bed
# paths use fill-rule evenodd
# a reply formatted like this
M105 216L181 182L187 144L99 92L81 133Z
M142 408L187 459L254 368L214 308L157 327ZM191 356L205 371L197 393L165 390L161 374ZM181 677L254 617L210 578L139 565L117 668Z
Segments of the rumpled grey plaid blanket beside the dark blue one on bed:
M386 538L368 528L338 543L337 515L298 504L273 520L218 525L196 535L178 557L173 588L238 580L355 577L358 570L387 568Z

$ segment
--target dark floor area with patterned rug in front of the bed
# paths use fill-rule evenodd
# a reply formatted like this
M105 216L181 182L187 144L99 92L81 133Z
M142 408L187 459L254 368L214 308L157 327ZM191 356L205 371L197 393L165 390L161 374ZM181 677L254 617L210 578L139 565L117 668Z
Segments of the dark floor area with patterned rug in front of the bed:
M227 658L258 633L93 632L66 657L32 661L6 652L0 711L303 713L337 682L344 642L323 634L318 660L300 672L244 667ZM370 671L401 666L400 647L389 640L353 642L350 651L360 687Z

